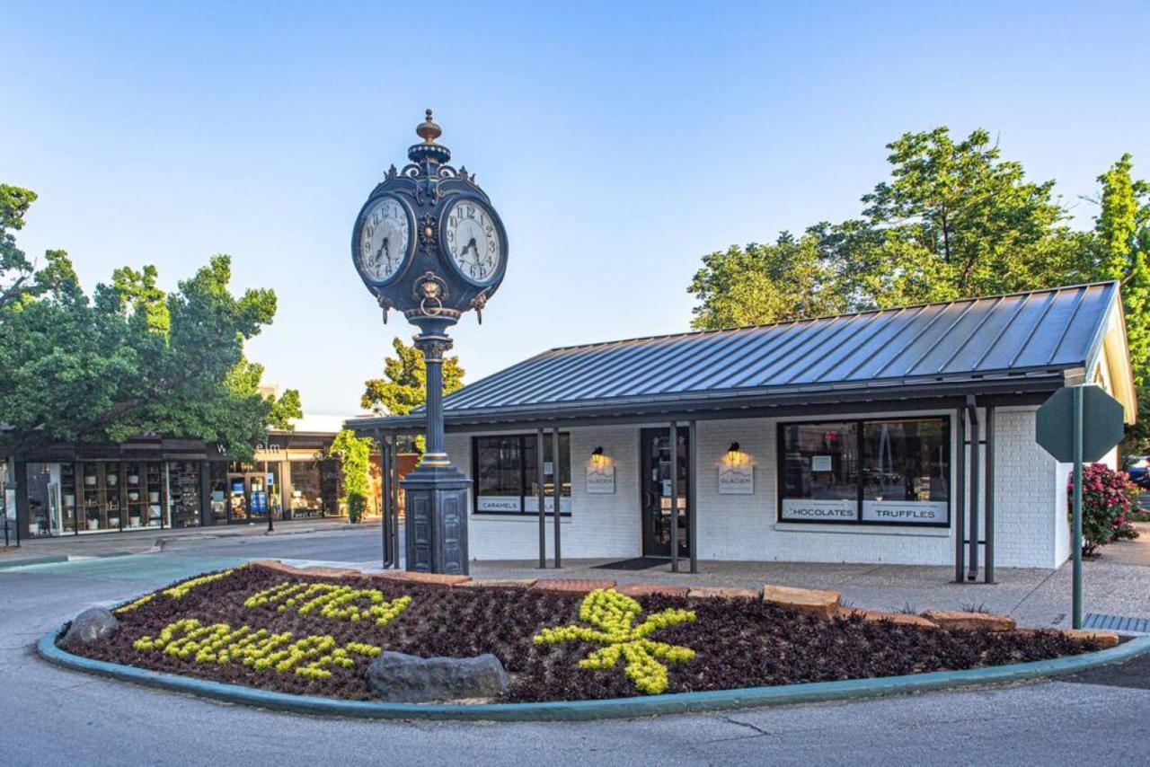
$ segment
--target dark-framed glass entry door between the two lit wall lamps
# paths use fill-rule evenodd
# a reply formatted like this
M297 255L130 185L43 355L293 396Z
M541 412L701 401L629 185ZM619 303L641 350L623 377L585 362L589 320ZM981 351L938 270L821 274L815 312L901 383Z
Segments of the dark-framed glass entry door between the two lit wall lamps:
M678 555L690 555L690 528L687 503L690 498L688 429L680 427L675 439L678 471L674 478L678 491ZM643 555L670 557L672 476L670 427L643 429L639 432L641 503L643 505Z

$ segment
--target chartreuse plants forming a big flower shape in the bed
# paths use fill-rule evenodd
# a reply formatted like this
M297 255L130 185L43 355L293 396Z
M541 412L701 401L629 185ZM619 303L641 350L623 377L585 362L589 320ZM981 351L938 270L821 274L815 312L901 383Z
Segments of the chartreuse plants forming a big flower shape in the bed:
M537 645L564 642L589 642L604 645L580 661L580 668L606 670L614 668L622 659L623 673L635 684L635 689L647 695L658 695L667 689L668 662L681 662L695 657L695 651L681 645L656 642L647 638L654 631L695 620L689 609L668 608L635 624L643 606L614 589L596 589L583 599L578 616L591 627L564 626L546 628L534 637Z

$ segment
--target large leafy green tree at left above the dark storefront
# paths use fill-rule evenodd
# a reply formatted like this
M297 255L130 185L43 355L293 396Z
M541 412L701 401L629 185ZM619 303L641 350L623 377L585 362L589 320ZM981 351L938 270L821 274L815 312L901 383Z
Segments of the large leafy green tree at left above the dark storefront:
M243 459L268 425L298 413L298 392L259 394L262 368L243 356L275 315L273 291L232 296L230 258L216 255L170 293L154 267L125 267L87 296L62 251L34 270L16 248L34 199L0 186L0 446L158 432L227 444Z

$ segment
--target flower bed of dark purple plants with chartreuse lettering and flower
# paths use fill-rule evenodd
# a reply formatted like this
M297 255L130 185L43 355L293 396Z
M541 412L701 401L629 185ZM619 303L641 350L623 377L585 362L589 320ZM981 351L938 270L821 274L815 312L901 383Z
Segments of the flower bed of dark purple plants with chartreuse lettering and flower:
M1096 649L1056 631L943 630L825 621L759 599L614 590L447 588L292 575L251 565L184 581L118 608L118 629L75 654L282 692L369 700L382 651L494 654L504 700L657 692L975 668Z

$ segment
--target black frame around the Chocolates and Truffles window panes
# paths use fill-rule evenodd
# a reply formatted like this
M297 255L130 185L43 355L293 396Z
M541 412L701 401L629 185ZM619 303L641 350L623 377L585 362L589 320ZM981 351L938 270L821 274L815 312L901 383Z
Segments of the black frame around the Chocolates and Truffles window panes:
M862 503L864 494L866 492L866 476L864 471L864 454L862 447L865 443L865 425L867 423L884 423L891 421L934 421L942 424L943 429L943 443L946 445L946 474L949 475L949 481L946 483L946 521L945 522L882 522L879 520L864 520L862 519ZM821 424L829 423L853 423L856 425L856 440L857 450L859 455L859 470L857 477L858 492L856 494L856 512L857 516L853 520L788 520L783 519L783 500L787 490L787 452L784 446L785 440L785 429L788 427L806 427L813 425L818 427ZM917 530L920 528L929 529L950 529L954 520L954 440L952 434L952 423L949 415L888 415L884 417L823 417L813 419L810 421L779 421L775 424L775 522L782 524L837 524L837 526L849 526L849 527L862 527L862 528L902 528Z

